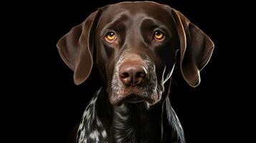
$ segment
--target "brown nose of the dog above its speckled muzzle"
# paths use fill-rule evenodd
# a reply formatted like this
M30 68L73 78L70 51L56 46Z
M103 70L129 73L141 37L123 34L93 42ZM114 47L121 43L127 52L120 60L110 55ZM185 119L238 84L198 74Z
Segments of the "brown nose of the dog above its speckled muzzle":
M126 86L140 85L146 77L146 68L140 64L123 64L119 69L120 80Z

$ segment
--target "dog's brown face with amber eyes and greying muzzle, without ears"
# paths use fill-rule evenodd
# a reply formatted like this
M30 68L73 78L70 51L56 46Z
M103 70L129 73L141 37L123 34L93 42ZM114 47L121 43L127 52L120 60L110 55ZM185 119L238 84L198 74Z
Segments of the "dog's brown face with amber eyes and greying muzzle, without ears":
M166 16L157 4L123 3L103 10L95 47L111 104L161 99L163 71L173 69L179 46L177 31L171 30L175 23Z

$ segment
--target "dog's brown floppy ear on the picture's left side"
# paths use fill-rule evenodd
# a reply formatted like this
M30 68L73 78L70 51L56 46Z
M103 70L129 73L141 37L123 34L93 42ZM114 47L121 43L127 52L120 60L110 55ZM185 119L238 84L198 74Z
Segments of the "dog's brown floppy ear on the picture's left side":
M93 34L98 22L99 11L73 27L57 43L62 60L74 71L74 82L85 82L93 68Z

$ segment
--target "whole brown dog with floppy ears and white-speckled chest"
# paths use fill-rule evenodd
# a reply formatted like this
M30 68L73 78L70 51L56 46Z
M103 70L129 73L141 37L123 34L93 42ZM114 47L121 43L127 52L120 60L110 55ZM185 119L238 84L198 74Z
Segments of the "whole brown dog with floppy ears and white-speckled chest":
M181 12L151 1L103 6L57 48L75 84L85 82L93 63L102 81L82 115L77 143L185 142L169 100L172 72L179 60L184 80L199 85L214 43Z

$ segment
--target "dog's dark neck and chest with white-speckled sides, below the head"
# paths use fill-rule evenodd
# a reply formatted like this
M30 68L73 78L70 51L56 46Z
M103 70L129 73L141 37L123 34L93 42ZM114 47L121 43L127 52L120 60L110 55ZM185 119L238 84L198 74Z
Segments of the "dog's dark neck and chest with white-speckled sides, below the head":
M143 103L113 107L100 88L82 116L77 142L184 143L183 129L165 93L149 109Z

